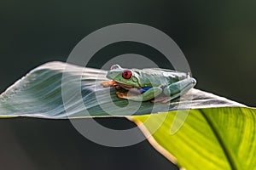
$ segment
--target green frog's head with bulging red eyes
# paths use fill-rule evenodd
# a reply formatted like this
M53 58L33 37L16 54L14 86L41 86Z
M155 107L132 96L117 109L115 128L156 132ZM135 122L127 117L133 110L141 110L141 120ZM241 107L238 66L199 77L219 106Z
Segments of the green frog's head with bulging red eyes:
M120 65L112 65L108 71L107 77L115 82L123 83L132 87L140 87L137 73L135 71L124 69Z

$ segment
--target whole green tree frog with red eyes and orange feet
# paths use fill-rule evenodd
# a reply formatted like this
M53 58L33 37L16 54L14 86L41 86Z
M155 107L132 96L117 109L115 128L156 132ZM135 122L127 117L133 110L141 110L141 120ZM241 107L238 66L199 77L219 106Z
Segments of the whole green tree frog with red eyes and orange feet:
M101 82L103 87L125 88L127 93L116 92L121 99L167 103L193 88L195 78L189 74L160 69L125 69L112 65L107 73L110 81Z

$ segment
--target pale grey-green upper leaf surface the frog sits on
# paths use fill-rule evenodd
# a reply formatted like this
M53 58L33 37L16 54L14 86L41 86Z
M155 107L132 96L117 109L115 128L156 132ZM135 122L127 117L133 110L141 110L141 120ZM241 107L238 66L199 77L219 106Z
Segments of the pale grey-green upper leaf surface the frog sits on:
M111 116L130 116L131 113L143 115L190 108L244 106L198 89L189 90L183 99L172 100L170 105L154 105L149 101L139 105L119 99L114 88L102 88L100 82L106 80L106 73L62 62L38 66L0 95L0 116L63 119L110 116L109 112Z

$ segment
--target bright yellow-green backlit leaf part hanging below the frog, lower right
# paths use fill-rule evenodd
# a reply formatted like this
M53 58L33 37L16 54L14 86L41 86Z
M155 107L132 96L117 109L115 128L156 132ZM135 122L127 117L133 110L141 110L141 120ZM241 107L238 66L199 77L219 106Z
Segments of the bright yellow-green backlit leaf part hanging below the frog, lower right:
M183 126L170 133L176 114L132 116L149 142L170 161L186 169L255 169L256 110L245 107L192 109ZM148 119L148 117L150 117ZM164 122L162 122L162 120Z

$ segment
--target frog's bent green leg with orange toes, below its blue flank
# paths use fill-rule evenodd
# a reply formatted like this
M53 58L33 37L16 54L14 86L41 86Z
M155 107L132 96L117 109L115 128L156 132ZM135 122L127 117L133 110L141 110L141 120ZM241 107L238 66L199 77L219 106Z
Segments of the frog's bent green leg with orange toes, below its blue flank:
M123 94L117 92L119 98L121 99L131 99L134 101L147 101L149 99L154 99L156 96L160 95L162 93L162 88L154 87L149 88L146 92L143 94L135 95L135 94Z

